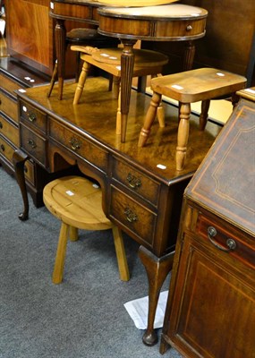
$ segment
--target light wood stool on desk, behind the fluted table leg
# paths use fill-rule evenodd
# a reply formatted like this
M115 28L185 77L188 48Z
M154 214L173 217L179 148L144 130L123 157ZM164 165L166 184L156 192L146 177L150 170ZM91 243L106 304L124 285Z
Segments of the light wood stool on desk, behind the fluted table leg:
M121 125L121 56L123 48L91 48L72 46L73 51L81 53L81 60L84 61L80 79L75 90L73 105L77 105L87 79L91 65L100 68L114 76L114 97L118 98L116 114L116 133L122 134ZM132 77L157 76L162 73L164 64L167 64L168 57L157 51L134 49L134 68ZM132 85L132 83L130 84Z

